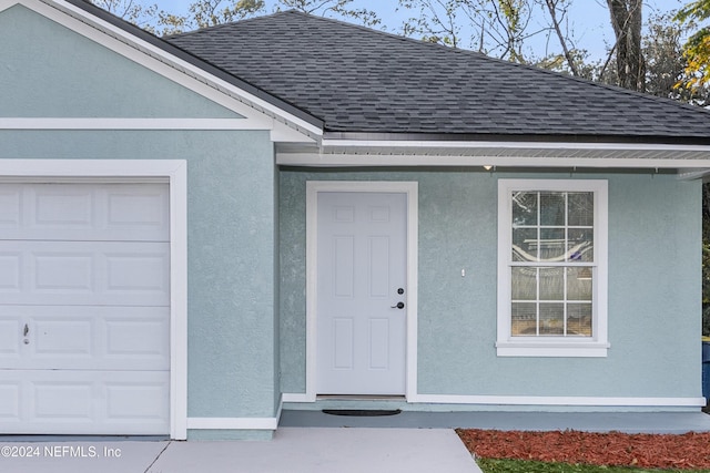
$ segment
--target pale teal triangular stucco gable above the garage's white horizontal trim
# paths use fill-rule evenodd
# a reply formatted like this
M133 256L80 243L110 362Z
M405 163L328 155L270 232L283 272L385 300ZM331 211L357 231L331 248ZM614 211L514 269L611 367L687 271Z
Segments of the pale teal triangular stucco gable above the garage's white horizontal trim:
M7 117L240 116L22 6L0 14L0 84Z

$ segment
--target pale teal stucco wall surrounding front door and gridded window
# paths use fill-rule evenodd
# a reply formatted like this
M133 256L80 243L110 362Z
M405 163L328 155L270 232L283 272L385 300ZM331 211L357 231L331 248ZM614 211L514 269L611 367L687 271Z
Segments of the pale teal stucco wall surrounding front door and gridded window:
M284 392L305 391L305 183L363 179L418 182L419 394L701 395L699 182L648 172L483 169L285 169L281 177ZM607 358L496 356L498 178L608 179Z

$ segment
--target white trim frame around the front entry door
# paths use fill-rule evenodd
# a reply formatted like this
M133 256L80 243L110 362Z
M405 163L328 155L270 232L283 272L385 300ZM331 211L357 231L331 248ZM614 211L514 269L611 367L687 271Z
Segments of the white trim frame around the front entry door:
M404 181L306 181L306 392L302 402L316 401L317 368L317 202L322 192L397 193L407 200L407 319L405 332L405 395L417 395L417 277L418 182Z

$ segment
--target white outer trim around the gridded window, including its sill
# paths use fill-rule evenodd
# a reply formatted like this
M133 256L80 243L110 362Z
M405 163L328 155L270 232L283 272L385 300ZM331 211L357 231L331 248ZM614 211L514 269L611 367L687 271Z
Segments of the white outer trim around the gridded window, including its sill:
M510 336L510 230L513 193L516 191L594 192L595 266L592 337ZM498 337L499 357L606 357L608 342L608 183L604 179L498 181Z

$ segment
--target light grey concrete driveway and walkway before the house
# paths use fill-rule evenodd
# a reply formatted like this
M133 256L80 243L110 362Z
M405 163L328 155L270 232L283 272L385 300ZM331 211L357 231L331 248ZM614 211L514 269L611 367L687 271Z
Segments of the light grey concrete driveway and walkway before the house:
M3 442L0 471L22 473L476 473L449 429L280 428L272 441Z

